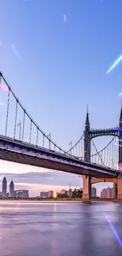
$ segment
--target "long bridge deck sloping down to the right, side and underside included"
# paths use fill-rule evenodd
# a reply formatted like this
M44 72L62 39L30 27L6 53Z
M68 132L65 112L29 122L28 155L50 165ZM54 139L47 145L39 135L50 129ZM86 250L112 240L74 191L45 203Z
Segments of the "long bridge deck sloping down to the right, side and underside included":
M116 177L118 170L0 135L0 159L91 177Z

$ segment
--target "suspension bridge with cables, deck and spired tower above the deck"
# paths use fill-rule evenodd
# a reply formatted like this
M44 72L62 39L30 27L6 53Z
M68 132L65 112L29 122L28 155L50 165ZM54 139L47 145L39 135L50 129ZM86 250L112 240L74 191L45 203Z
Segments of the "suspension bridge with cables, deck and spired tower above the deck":
M85 130L78 142L64 150L46 135L24 109L0 72L0 93L4 102L0 126L0 158L46 169L76 173L88 177L116 178L120 176L118 163L122 163L122 109L120 124L114 128L91 129L89 114ZM18 128L19 126L19 132ZM112 136L102 150L97 150L94 138Z

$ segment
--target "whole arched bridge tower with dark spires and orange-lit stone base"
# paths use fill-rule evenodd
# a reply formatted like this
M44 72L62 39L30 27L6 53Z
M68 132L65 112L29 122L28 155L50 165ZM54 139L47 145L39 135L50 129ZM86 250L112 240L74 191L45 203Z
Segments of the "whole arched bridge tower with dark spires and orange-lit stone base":
M89 121L89 113L87 108L87 117L84 131L84 160L91 162L91 139L98 136L111 135L116 136L119 139L119 162L118 169L121 174L116 178L92 178L91 176L83 175L83 199L91 199L91 184L98 182L113 182L114 195L118 199L122 199L122 106L120 109L120 122L119 128L109 129L91 129Z

